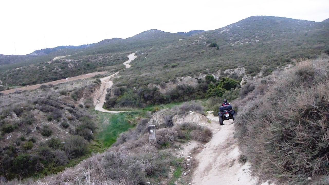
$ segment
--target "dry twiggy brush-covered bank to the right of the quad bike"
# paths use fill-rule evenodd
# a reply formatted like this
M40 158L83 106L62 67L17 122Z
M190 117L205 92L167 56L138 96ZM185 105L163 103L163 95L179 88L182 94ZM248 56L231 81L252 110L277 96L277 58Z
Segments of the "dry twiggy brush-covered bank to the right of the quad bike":
M238 102L246 105L239 107L236 137L253 175L282 184L329 183L328 70L323 55L242 88Z

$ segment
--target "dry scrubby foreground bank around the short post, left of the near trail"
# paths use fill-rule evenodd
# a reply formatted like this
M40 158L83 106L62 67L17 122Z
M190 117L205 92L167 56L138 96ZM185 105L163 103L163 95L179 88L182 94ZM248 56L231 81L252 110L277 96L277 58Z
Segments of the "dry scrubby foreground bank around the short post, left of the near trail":
M195 111L195 118L202 117L208 124L202 106L192 103L184 104L173 109L165 109L160 114L155 113L152 119L141 119L135 129L122 134L114 146L101 154L81 162L73 168L53 176L33 181L1 181L4 184L39 184L39 185L83 185L83 184L113 184L113 185L140 185L140 184L188 184L186 178L180 178L193 170L191 154L182 154L188 141L207 143L213 132L194 123L181 120L190 118L189 111ZM162 115L164 119L156 119ZM170 116L171 115L171 116ZM174 116L175 115L175 116ZM174 116L174 117L173 117ZM176 118L176 119L175 119ZM180 121L178 120L180 119ZM198 119L194 119L197 120ZM155 124L157 142L149 142L147 126ZM201 144L200 144L201 145ZM185 145L187 146L187 145ZM192 149L192 148L190 148ZM185 152L190 152L187 150ZM188 156L187 156L188 155ZM186 160L188 159L188 160ZM191 170L191 171L190 171ZM184 176L187 177L187 176Z

